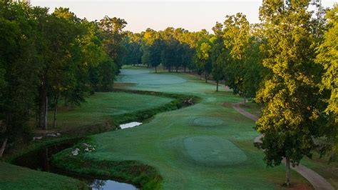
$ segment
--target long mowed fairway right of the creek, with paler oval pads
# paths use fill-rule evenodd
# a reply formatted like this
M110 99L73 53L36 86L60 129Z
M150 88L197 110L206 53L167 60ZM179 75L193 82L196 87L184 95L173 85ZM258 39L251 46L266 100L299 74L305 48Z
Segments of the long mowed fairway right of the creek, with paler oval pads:
M178 79L178 77L180 79ZM172 81L171 84L166 80ZM138 84L138 81L148 81ZM156 79L160 79L156 81ZM163 189L281 189L285 166L267 168L262 150L253 146L255 122L224 102L242 101L231 91L215 92L188 74L150 74L146 69L124 69L122 83L129 89L194 94L202 101L157 114L135 128L91 136L97 149L83 154L90 161L140 161L163 177ZM161 83L160 81L165 81ZM292 171L292 183L311 189Z

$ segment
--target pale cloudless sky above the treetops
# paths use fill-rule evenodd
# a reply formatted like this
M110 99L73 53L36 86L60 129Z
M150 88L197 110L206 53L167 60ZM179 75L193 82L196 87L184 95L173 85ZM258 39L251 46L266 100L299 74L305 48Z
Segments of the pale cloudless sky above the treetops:
M337 1L322 0L324 7ZM90 21L103 16L119 17L127 21L124 30L140 32L147 28L163 30L168 26L200 31L211 31L216 21L223 22L226 15L241 12L250 23L258 23L262 0L31 0L33 6L68 7L80 18Z

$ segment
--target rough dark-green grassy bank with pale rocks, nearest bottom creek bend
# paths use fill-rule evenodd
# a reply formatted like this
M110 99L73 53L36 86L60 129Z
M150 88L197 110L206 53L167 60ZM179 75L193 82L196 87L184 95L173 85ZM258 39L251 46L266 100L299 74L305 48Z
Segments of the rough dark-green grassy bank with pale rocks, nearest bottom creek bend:
M88 143L88 141L86 141ZM93 144L93 141L91 141ZM81 144L77 146L81 149ZM80 175L115 179L133 184L142 189L160 189L163 180L158 171L138 161L105 161L86 159L81 149L78 156L71 156L71 149L66 149L52 157L54 165Z

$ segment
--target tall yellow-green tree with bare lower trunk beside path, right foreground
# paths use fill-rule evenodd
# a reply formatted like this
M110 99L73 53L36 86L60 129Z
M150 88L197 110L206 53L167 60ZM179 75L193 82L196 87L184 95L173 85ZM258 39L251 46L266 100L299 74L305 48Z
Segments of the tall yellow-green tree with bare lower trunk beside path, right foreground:
M260 19L267 43L263 65L269 70L256 100L267 106L256 123L264 134L262 144L268 166L286 162L285 185L290 186L290 164L311 156L319 136L322 104L317 82L320 67L314 64L309 1L263 1Z

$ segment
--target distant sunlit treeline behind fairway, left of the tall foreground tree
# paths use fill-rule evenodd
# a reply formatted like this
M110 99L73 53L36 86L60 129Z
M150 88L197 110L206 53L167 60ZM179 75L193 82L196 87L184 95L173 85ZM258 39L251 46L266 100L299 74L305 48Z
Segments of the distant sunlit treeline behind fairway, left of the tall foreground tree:
M223 81L235 94L252 99L265 75L260 45L264 43L260 25L250 25L245 15L227 16L212 30L190 32L171 27L163 31L147 29L140 34L126 32L123 62L159 65L171 71L192 71L218 84Z

